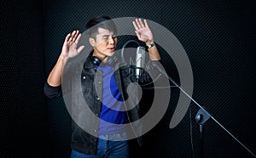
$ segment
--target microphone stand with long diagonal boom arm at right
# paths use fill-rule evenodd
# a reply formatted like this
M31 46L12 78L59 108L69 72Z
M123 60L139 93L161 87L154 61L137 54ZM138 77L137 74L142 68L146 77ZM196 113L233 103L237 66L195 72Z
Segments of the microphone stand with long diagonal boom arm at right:
M229 133L232 138L236 140L241 146L246 149L253 157L256 157L256 155L253 154L251 150L249 150L244 144L241 143L232 133L230 133L222 124L220 124L209 112L201 106L201 104L198 104L195 99L193 99L191 96L189 96L188 93L186 93L182 87L180 87L177 82L175 82L171 76L169 76L166 71L163 71L157 64L154 64L154 66L163 74L166 76L176 87L178 87L189 99L191 99L199 108L200 110L197 112L195 116L195 120L197 123L199 123L200 126L200 138L201 138L201 157L204 157L204 148L203 148L203 124L209 119L212 118L213 121L215 121L218 126L222 127L226 133Z

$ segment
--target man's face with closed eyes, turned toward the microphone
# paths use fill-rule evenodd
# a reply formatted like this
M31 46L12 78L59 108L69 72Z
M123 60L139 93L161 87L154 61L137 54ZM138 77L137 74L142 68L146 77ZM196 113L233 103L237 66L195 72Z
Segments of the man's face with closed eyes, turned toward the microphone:
M102 61L113 56L117 44L117 37L113 34L113 31L98 28L95 39L90 38L90 40L93 40L90 44L94 47L94 56L102 59Z

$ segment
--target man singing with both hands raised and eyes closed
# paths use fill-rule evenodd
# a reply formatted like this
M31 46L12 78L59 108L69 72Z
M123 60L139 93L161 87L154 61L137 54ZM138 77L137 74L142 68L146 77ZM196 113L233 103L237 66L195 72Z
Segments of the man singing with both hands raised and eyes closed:
M138 40L146 44L152 63L160 60L160 54L154 45L153 34L147 21L136 19L132 23ZM72 110L75 121L73 122L72 157L129 157L129 145L125 137L129 137L132 133L138 136L138 143L142 143L139 137L140 125L126 126L127 123L140 118L138 108L129 108L137 105L137 99L128 99L132 98L132 95L137 95L137 88L131 88L131 91L126 90L133 82L130 77L132 75L124 75L127 74L127 66L121 67L120 61L113 58L117 45L117 29L113 20L108 16L98 16L88 21L86 29L93 50L85 60L82 72L79 72L82 76L81 81L68 80L74 86L71 90L74 92L72 106L75 107L75 110ZM61 95L61 82L65 80L61 78L65 73L64 68L68 61L76 57L84 48L84 46L78 48L80 37L79 31L73 31L67 35L61 55L49 73L44 87L44 92L49 98ZM149 65L151 64L149 62ZM120 69L114 69L116 65ZM82 93L83 97L78 97L78 87L81 87L79 93ZM85 103L84 100L93 114L100 118L99 120L92 119L88 110L81 110L84 107L82 104ZM90 128L96 135L86 133L84 127Z

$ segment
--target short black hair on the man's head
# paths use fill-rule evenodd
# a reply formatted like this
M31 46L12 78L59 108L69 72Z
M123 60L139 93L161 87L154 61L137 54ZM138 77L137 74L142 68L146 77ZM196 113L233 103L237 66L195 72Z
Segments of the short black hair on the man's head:
M90 37L96 37L96 34L98 34L98 28L113 31L114 34L117 33L117 28L113 23L113 20L106 15L96 16L95 18L89 20L86 24L86 30Z

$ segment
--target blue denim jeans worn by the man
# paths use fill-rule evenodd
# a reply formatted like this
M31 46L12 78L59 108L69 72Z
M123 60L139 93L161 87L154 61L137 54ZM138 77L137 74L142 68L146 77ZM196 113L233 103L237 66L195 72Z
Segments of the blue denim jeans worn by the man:
M100 135L97 143L96 155L88 155L72 150L72 158L128 158L129 144L127 140L111 141L109 137L122 137L121 134Z

